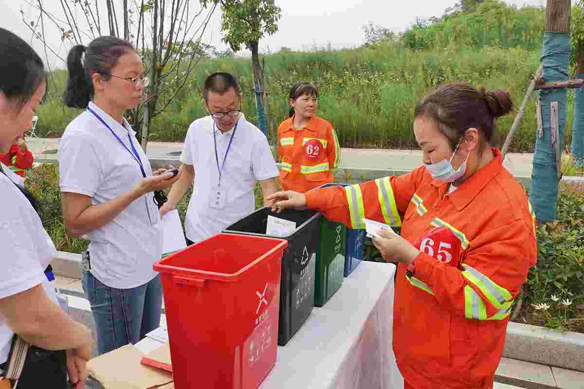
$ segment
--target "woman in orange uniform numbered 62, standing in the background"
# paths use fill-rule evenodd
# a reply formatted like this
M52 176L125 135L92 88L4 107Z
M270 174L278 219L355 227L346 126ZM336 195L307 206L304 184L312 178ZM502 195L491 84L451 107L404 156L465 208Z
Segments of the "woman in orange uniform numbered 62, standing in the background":
M280 183L284 190L307 192L332 183L340 162L339 141L331 123L316 116L317 87L297 83L290 90L290 118L278 127Z

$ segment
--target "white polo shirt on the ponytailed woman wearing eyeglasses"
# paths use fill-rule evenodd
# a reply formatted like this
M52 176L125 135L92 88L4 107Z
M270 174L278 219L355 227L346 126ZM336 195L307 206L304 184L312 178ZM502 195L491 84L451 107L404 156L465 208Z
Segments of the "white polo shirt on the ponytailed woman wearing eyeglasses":
M148 157L124 120L116 122L98 106L89 103L132 150L128 136L140 156L147 176L152 176ZM91 197L94 205L124 194L142 180L140 165L130 151L91 112L84 111L65 129L59 142L61 192ZM110 288L128 289L144 285L157 273L152 264L162 256L162 237L156 226L160 216L153 194L133 201L111 222L86 234L92 274Z

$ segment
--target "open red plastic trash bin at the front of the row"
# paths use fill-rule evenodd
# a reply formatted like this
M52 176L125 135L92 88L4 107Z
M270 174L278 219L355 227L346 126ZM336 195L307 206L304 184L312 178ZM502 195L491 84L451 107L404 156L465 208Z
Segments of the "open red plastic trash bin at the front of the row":
M176 389L255 389L276 363L283 239L218 234L154 264Z

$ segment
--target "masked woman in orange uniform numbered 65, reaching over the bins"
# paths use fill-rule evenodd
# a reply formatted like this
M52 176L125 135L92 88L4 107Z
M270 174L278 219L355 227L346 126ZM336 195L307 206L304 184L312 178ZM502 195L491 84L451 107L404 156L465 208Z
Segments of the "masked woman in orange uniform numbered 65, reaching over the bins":
M424 166L267 198L277 212L321 209L352 228L363 218L402 225L401 236L383 232L373 242L399 262L393 346L405 388L493 386L513 301L537 259L525 191L491 148L495 119L511 107L502 90L439 87L415 111Z

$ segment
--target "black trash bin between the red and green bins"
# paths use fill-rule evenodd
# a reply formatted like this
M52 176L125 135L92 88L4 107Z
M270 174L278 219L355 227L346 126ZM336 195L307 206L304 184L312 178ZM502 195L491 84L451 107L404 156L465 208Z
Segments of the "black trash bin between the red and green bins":
M267 216L296 223L288 236L266 234ZM227 227L225 233L278 237L288 241L284 249L280 284L280 324L278 345L284 346L296 334L314 307L314 276L319 240L319 211L294 211L281 213L270 208L260 208Z

